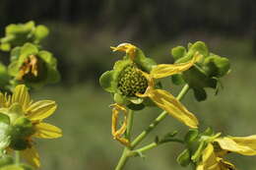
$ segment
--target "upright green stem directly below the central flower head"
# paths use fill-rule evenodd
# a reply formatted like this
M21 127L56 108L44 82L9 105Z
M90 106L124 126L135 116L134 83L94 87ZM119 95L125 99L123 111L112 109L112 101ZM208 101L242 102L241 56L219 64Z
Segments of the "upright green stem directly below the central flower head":
M132 126L133 126L133 116L134 113L132 110L129 110L128 112L128 118L127 118L127 129L126 129L126 139L128 141L131 140L131 131L132 131ZM115 167L115 170L121 170L124 165L126 164L129 156L128 154L130 153L130 148L128 146L125 146L123 149L123 153L121 158L119 159L119 162L117 164L117 166Z

